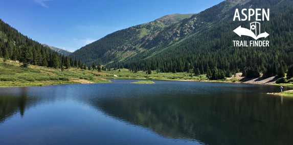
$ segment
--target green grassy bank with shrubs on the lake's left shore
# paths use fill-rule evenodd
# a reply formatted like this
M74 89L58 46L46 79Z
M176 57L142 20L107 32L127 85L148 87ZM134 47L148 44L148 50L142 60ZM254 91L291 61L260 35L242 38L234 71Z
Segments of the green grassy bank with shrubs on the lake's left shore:
M0 58L0 87L12 86L44 86L56 84L76 84L78 80L100 83L109 82L98 79L97 71L80 70L72 68L61 71L59 68L40 67L30 65L28 68L19 66L15 61L3 62ZM86 81L83 81L83 83Z

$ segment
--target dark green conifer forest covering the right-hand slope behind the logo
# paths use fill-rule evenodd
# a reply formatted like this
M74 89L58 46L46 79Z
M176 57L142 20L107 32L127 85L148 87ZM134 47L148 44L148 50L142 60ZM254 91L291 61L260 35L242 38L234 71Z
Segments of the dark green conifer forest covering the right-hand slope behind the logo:
M207 74L213 79L222 79L235 72L243 72L243 76L247 77L259 77L259 73L263 73L264 77L284 77L286 71L293 69L293 7L292 1L280 2L251 1L244 6L235 7L239 10L249 6L253 9L270 9L269 21L260 21L261 33L265 31L269 36L258 39L268 40L269 47L233 46L233 40L246 40L247 43L254 40L248 36L239 37L233 30L239 26L250 28L250 22L255 18L251 21L233 21L235 9L232 9L229 11L230 16L197 37L178 42L153 57L110 66L129 68L134 72L149 69L161 72L186 72L193 69L195 75L199 69L200 74ZM200 20L207 21L205 17L199 17L198 21Z

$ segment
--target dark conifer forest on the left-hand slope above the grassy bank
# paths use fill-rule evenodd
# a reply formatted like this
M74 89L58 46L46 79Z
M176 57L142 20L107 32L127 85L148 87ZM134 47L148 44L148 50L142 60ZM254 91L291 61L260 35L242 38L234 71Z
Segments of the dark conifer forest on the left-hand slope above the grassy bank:
M29 64L61 68L77 67L73 58L64 57L44 47L37 41L22 35L0 19L0 57Z

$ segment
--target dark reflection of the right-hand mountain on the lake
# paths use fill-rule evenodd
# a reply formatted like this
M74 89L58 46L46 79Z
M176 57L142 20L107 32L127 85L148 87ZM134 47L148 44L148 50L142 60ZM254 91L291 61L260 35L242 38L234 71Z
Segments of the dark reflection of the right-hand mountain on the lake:
M293 100L289 98L241 93L162 98L117 98L101 101L96 107L168 138L206 144L293 142Z

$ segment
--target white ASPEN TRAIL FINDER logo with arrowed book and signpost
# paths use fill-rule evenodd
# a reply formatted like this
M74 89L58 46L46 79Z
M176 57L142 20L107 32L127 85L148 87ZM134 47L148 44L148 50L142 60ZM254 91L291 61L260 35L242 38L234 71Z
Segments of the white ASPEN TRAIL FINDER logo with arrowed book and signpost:
M254 14L257 21L260 21L260 20L264 21L265 18L266 20L269 20L269 9L267 9L267 12L264 9L262 9L262 19L259 18L259 16L261 15L261 13L259 13L260 10L261 9L256 9L256 10L249 9L248 20L250 21L251 17L254 16ZM238 18L239 21L245 21L247 19L247 15L245 14L245 11L247 11L247 9L242 9L241 13L244 16L244 18L240 19L239 11L238 9L236 9L233 21L235 21L236 18ZM266 32L261 33L260 23L257 21L250 23L250 29L241 28L241 26L239 26L233 31L240 37L249 36L254 38L255 40L259 38L266 38L269 34L267 34ZM234 43L234 46L249 46L247 45L246 41L233 40L233 43ZM250 46L269 46L269 42L268 41L250 41Z

